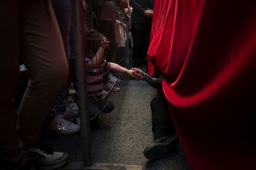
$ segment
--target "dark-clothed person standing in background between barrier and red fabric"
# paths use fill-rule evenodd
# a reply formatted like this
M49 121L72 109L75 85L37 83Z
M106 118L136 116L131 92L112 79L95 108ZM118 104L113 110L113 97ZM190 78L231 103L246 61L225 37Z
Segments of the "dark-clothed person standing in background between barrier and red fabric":
M130 0L132 7L132 49L133 66L140 67L145 63L150 41L151 19L154 0Z

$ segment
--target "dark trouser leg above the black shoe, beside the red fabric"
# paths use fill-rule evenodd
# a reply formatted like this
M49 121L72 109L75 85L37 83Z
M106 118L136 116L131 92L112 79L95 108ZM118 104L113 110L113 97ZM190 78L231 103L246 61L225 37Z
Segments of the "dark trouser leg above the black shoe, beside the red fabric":
M176 134L164 95L158 95L158 97L151 100L150 106L154 140Z

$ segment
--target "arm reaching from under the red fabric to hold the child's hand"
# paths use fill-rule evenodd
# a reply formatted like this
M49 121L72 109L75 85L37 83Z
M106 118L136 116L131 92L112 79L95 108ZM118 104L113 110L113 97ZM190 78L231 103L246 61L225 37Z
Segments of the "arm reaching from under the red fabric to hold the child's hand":
M140 70L139 68L132 68L134 72L134 74L136 75L140 75L137 76L137 80L143 80L146 81L151 87L155 88L155 89L162 89L162 76L160 78L152 78L151 76L149 76L147 73L144 73L142 70Z

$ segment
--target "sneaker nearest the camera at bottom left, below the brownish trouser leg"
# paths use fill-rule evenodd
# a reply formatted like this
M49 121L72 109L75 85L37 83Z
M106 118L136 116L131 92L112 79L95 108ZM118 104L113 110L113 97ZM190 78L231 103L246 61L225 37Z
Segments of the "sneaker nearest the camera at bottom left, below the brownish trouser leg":
M67 153L54 152L46 144L30 149L28 153L36 169L57 169L67 163Z

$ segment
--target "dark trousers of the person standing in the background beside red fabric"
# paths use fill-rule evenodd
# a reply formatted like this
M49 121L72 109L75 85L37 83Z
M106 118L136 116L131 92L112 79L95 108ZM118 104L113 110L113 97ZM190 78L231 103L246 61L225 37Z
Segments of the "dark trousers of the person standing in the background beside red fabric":
M132 59L134 66L142 64L147 59L148 46L150 41L150 23L133 23L132 37L134 39L134 47L132 49Z

